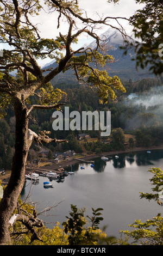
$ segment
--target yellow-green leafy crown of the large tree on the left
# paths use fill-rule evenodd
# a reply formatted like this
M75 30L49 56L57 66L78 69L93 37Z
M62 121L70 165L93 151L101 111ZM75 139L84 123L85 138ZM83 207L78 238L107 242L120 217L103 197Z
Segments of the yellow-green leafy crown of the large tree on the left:
M77 1L0 1L0 42L7 45L0 58L0 106L1 116L5 108L12 102L13 97L26 102L29 107L29 97L36 95L40 105L53 105L61 101L65 93L50 84L52 78L60 72L74 70L77 80L95 89L101 103L107 103L108 97L116 98L116 90L126 92L117 76L110 77L104 70L106 62L112 63L114 59L105 55L99 38L94 32L96 24L104 23L107 19L92 20L85 18L84 11L78 6ZM109 1L118 2L118 1ZM66 35L56 38L43 38L39 29L34 24L35 16L42 11L57 13L58 26L61 17L68 23ZM77 27L77 20L82 20L83 27ZM92 26L91 26L92 24ZM54 24L54 29L55 24ZM96 49L72 49L72 44L77 43L78 36L82 33L96 39ZM10 46L10 48L9 48ZM9 50L7 50L9 48ZM51 58L56 60L56 68L43 70L38 60ZM96 68L94 68L96 66ZM16 72L13 76L11 72Z

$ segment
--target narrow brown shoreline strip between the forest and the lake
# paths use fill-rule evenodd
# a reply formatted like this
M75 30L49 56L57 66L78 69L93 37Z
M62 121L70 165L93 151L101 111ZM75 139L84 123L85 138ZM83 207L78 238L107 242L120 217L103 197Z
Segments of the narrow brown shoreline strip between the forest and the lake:
M150 150L161 150L161 149L163 149L163 144L160 144L158 146L150 147ZM136 147L136 148L133 148L133 149L119 150L118 154L128 154L128 153L134 153L134 152L146 151L146 150L149 150L149 148L148 147L145 147L145 148ZM111 155L116 155L116 151L109 151L109 152L104 152L104 153L101 153L101 154L92 154L92 155L89 155L89 156L87 155L87 156L83 156L83 157L78 158L78 159L81 159L83 161L80 161L76 158L70 158L70 159L63 160L63 161L58 162L58 163L51 164L50 166L46 166L45 168L49 171L50 170L57 170L59 168L68 167L71 164L76 164L76 163L79 163L79 162L84 163L84 160L92 161L92 160L97 159L98 157L101 157L101 156L111 156ZM0 176L0 180L2 181L2 185L7 185L8 181L10 179L11 170L7 170L6 172L7 172L7 174L4 174L4 176L3 175Z

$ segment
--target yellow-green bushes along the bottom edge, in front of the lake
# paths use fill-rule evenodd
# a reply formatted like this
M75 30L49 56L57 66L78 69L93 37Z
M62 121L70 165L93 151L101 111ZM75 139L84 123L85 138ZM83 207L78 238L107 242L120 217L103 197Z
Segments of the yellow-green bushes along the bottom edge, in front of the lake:
M1 185L1 181L0 181ZM18 204L21 206L23 214L32 218L34 207L31 204L22 203L19 199ZM89 217L91 220L91 227L84 227L86 220L84 217L84 210L78 210L76 206L71 205L72 212L70 212L71 218L62 225L64 228L60 228L56 223L52 229L45 227L35 227L37 234L40 236L40 240L31 241L32 234L20 221L16 221L14 226L10 228L10 236L12 245L96 245L97 242L106 241L115 242L114 237L106 239L106 234L98 228L99 221L103 218L99 217L101 213L99 211L103 209L93 210L93 217ZM14 214L19 214L19 211L15 209ZM37 212L35 212L35 215Z

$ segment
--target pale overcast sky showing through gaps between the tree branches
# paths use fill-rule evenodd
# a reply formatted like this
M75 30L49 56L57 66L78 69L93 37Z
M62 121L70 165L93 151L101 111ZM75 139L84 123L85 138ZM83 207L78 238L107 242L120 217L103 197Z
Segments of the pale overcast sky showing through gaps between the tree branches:
M108 3L107 0L79 0L79 7L86 11L88 17L98 19L99 16L119 16L129 18L137 9L141 8L142 5L136 4L135 0L120 0L118 4ZM37 16L36 22L40 24L38 24L38 26L40 28L41 35L46 38L55 38L56 35L59 35L59 32L63 35L67 33L68 27L67 23L64 21L60 21L60 28L57 29L57 17L58 16L54 13L42 13ZM127 21L120 20L120 22L127 32L131 32L131 27L128 25ZM110 23L117 26L117 23L112 22L111 20ZM98 28L97 34L100 35L104 33L108 28L108 26ZM84 44L89 44L92 41L92 38L87 38L86 35L82 35L79 38L78 45L73 46L73 50L77 50L77 48L82 47ZM51 62L51 59L42 60L40 64L43 65L48 62Z

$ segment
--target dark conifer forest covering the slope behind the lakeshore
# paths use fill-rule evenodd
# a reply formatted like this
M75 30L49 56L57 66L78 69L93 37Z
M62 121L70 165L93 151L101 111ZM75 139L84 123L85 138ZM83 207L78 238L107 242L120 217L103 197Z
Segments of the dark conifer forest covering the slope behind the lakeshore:
M54 131L52 128L53 109L34 109L30 117L29 129L35 131L51 131L52 137L67 139L68 143L62 143L59 147L51 143L46 145L52 152L74 150L76 153L89 151L92 153L103 153L112 150L125 150L128 147L151 147L162 143L162 85L163 78L145 78L143 80L123 81L126 93L117 93L115 101L109 100L106 105L100 104L96 92L92 89L80 86L76 82L72 84L57 83L52 80L55 88L60 88L66 92L65 106L71 111L111 111L111 135L101 137L100 131ZM138 97L139 96L139 97ZM138 100L139 99L139 100ZM150 106L151 100L154 100ZM35 103L34 99L32 100ZM148 104L149 103L149 104ZM149 106L148 106L149 105ZM64 114L64 107L62 107ZM10 168L14 154L14 127L15 117L11 106L7 115L0 121L0 168ZM95 140L85 139L79 143L77 135L89 133ZM125 135L131 135L126 141ZM32 149L38 151L39 148L33 143Z

